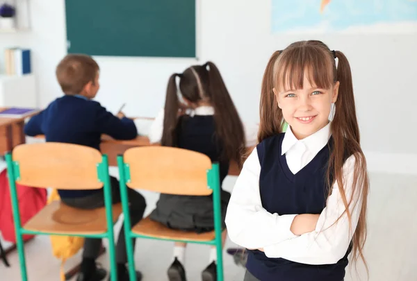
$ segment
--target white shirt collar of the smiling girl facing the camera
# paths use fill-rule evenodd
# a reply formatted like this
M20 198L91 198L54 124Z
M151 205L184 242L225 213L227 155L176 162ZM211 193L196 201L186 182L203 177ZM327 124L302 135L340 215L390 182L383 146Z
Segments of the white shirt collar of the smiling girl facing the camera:
M321 128L313 135L309 135L305 139L298 140L297 137L293 134L291 126L288 126L284 139L282 141L281 155L287 153L297 142L302 142L306 148L313 154L317 154L327 142L329 142L332 133L330 132L330 124L327 124L324 128Z

